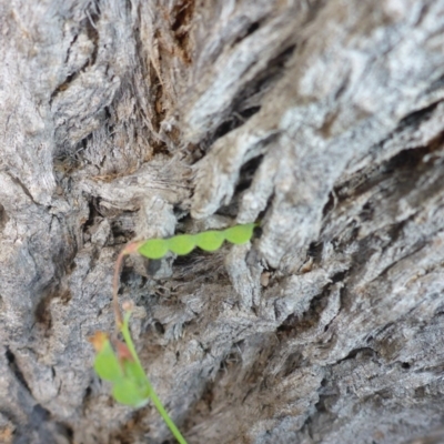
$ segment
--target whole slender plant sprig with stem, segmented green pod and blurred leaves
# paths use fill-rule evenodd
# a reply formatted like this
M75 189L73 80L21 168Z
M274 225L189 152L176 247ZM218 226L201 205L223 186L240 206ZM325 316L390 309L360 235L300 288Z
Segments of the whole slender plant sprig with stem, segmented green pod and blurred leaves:
M112 395L115 401L139 408L147 405L151 400L180 444L186 444L186 441L155 394L135 351L129 326L131 304L123 304L123 315L120 311L118 292L123 260L129 254L161 259L169 251L184 255L196 246L204 251L215 251L221 248L225 240L234 244L242 244L250 241L254 226L256 226L255 223L250 223L221 231L211 230L199 234L179 234L170 239L131 242L120 252L115 261L112 281L115 333L110 335L104 332L95 332L91 337L90 341L97 352L94 371L102 380L111 383ZM123 341L118 337L119 333Z

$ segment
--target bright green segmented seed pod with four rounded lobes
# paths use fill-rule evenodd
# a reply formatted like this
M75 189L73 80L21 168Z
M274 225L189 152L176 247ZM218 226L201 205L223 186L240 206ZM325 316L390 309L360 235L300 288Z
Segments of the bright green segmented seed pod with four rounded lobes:
M195 246L204 251L216 251L225 240L234 244L249 242L256 225L248 223L221 231L210 230L199 234L178 234L170 239L150 239L139 246L138 252L149 259L161 259L169 251L184 255Z

